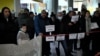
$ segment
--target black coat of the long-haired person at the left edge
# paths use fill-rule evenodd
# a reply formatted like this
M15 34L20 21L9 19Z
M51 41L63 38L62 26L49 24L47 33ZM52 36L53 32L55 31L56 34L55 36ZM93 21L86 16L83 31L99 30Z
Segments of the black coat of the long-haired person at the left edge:
M12 18L7 20L0 15L0 44L16 44L18 27Z

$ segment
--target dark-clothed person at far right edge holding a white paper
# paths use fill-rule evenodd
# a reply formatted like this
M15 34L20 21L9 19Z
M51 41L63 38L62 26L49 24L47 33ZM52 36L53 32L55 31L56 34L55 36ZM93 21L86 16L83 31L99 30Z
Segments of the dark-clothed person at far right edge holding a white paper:
M95 11L94 14L93 14L93 18L91 19L91 21L93 23L97 23L97 25L99 26L99 28L96 28L96 29L92 29L91 31L100 31L100 15L99 15L99 12L98 11ZM93 41L93 44L92 44L92 50L93 50L93 55L97 54L100 52L100 45L99 45L99 42L100 42L100 32L95 32L95 33L92 33L91 34L92 36L92 41Z

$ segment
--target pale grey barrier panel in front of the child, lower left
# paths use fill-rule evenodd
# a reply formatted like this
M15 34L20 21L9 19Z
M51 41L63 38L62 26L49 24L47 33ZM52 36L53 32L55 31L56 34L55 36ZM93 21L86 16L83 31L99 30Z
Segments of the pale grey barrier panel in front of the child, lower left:
M0 56L41 56L41 46L41 36L22 45L0 44Z

